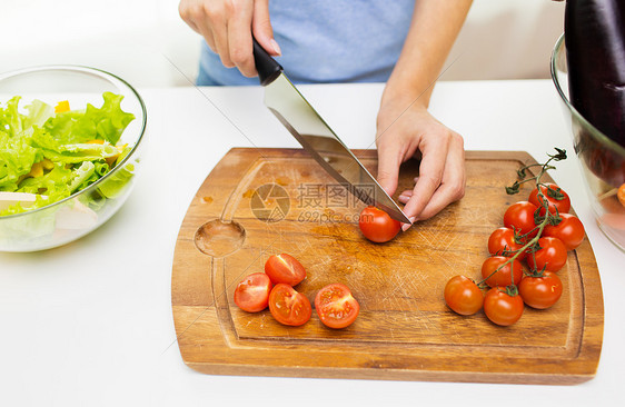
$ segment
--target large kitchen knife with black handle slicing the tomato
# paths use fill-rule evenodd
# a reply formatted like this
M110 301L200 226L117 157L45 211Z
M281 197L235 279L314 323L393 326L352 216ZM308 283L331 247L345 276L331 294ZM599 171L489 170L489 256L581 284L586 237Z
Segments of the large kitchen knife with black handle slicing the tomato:
M393 219L411 224L378 181L345 146L285 75L282 67L254 39L254 59L265 106L306 151L340 185L363 202L386 211Z

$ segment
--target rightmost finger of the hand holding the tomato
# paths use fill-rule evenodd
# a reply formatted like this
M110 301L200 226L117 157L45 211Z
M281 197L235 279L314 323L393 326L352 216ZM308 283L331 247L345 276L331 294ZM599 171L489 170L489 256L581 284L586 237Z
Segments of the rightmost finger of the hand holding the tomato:
M419 219L421 220L431 218L449 204L459 200L465 195L465 150L462 138L459 138L459 140L458 138L454 138L449 142L449 152L445 162L443 182L419 215Z

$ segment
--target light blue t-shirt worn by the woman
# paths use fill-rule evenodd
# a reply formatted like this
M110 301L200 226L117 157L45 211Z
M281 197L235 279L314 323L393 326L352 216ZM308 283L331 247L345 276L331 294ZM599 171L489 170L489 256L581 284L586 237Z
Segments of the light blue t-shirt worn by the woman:
M415 0L270 0L276 60L296 83L385 82L401 52ZM258 85L202 44L200 86Z

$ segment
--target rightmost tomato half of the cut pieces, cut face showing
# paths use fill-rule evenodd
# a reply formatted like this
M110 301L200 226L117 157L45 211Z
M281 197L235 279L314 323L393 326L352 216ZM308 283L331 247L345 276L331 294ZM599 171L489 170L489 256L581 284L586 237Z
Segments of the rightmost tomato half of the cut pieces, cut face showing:
M350 326L356 320L360 305L351 296L347 286L335 282L317 292L315 309L325 326L340 329Z

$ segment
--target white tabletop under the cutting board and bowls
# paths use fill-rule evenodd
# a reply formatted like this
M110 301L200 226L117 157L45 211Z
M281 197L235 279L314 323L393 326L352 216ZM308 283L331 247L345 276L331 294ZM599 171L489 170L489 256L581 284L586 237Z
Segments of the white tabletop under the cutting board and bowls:
M373 147L380 85L300 88L348 146ZM262 106L260 88L202 91L141 89L145 166L110 221L62 248L0 254L0 405L623 404L625 254L593 221L556 91L545 80L442 82L431 111L465 137L467 150L526 150L537 160L555 146L569 151L552 176L586 226L604 290L603 355L593 380L558 387L289 379L186 367L175 343L170 278L189 201L231 147L298 147Z

